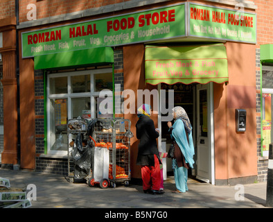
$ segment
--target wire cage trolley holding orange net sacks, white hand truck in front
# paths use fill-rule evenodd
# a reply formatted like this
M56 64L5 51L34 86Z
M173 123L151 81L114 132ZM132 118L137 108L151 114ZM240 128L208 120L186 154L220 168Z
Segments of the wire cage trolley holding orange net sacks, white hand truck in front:
M93 137L92 177L87 184L101 188L116 187L117 182L129 185L130 131L128 119L96 119Z

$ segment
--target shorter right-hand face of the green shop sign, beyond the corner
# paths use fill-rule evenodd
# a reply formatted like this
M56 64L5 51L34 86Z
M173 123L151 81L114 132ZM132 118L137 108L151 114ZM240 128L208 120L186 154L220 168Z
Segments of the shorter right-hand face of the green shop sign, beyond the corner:
M189 3L188 36L256 43L256 14Z

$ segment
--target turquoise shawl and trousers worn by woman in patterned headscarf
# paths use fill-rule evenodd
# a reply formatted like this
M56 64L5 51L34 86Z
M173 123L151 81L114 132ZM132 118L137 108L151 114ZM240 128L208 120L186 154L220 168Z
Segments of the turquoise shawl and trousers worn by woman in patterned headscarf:
M194 160L194 146L193 146L193 135L188 134L188 139L186 136L186 131L184 128L184 123L182 119L177 119L173 124L173 130L171 137L175 139L175 142L179 146L182 154L184 155L185 162L188 163L189 167L193 168ZM175 176L175 185L177 189L181 192L186 192L188 190L188 169L185 167L177 167L177 162L173 159L173 171Z

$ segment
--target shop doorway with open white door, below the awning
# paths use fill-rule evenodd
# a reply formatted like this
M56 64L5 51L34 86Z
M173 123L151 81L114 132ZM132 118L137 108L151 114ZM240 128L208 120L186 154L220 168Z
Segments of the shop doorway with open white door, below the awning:
M193 126L193 142L195 146L195 164L194 169L188 171L188 176L197 178L204 182L214 184L214 146L213 146L213 84L205 85L192 83L185 85L177 83L175 85L167 85L161 83L159 89L165 89L166 104L159 103L159 111L162 105L171 105L169 103L168 92L173 89L173 106L182 106L186 110L188 117ZM162 93L162 91L161 91ZM161 94L160 94L161 96ZM159 96L159 97L160 97ZM159 99L160 101L160 99ZM161 121L167 114L159 112L159 151L168 152L171 144L170 134L168 133L167 121ZM172 175L172 161L169 158L163 161L166 179L168 175Z

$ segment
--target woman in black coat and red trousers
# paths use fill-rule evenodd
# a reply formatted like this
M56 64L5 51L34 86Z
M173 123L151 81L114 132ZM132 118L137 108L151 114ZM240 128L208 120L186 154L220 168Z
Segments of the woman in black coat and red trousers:
M150 119L150 105L141 105L137 113L139 121L136 123L136 138L140 139L140 142L136 165L141 165L143 191L150 194L162 194L159 191L161 161L156 140L159 137L159 130L155 129L155 123Z

